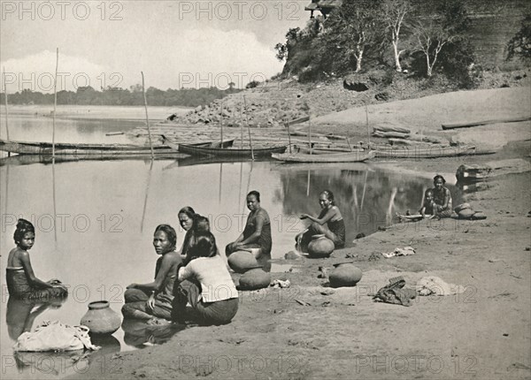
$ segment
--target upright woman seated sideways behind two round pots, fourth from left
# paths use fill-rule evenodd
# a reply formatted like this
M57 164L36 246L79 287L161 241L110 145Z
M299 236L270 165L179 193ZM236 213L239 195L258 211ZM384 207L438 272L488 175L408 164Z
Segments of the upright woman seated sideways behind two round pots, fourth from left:
M247 194L247 208L250 209L249 217L242 234L225 247L225 254L232 255L235 251L253 249L257 261L266 271L271 270L271 220L266 209L260 207L260 193L253 190Z

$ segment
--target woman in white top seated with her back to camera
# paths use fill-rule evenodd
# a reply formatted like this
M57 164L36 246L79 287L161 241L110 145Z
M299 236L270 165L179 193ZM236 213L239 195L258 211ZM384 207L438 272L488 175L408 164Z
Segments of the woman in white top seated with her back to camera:
M190 262L179 270L178 281L173 298L174 323L191 320L219 325L229 323L236 315L238 292L211 232L196 235L190 247Z

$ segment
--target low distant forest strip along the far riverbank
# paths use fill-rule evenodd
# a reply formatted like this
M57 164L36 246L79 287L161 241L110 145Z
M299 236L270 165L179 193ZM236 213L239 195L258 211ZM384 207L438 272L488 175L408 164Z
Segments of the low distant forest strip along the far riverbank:
M148 105L151 106L182 106L196 107L202 104L212 103L229 94L241 90L231 87L220 90L218 87L210 88L181 88L175 90L168 88L166 91L156 87L149 87L146 91ZM23 89L15 94L8 94L9 104L53 104L53 94ZM5 104L4 93L0 94L0 103ZM142 86L131 86L129 89L120 87L108 87L102 91L96 91L93 87L78 87L76 92L59 91L58 104L78 105L143 105Z

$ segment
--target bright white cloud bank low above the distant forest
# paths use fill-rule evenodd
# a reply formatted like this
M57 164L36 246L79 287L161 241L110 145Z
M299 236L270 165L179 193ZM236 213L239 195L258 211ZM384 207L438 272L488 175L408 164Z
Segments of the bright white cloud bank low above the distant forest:
M105 55L86 49L104 65L92 62L89 57L59 52L58 91L75 91L84 86L96 90L128 88L142 83L141 72L144 72L146 87L164 90L169 87L224 89L231 81L236 87L245 87L251 80L266 80L282 69L273 49L247 31L191 28L175 31L173 35L165 34L161 40L152 43L129 40L127 45L116 46L112 52L105 49ZM5 67L8 93L24 88L53 92L54 51L43 50L8 59L1 65Z

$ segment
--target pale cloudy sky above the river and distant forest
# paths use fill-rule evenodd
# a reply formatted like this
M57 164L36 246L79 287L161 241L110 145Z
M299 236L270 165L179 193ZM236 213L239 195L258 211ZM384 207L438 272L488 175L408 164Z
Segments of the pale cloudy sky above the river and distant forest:
M244 87L281 72L274 45L304 27L310 0L4 1L0 65L8 93L91 86ZM4 80L5 79L5 80Z

